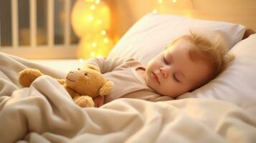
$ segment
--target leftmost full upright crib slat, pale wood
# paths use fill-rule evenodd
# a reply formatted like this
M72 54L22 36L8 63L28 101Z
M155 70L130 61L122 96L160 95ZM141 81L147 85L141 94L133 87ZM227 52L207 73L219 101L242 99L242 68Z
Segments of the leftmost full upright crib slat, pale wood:
M11 0L11 39L12 46L16 48L19 45L19 16L18 0Z

